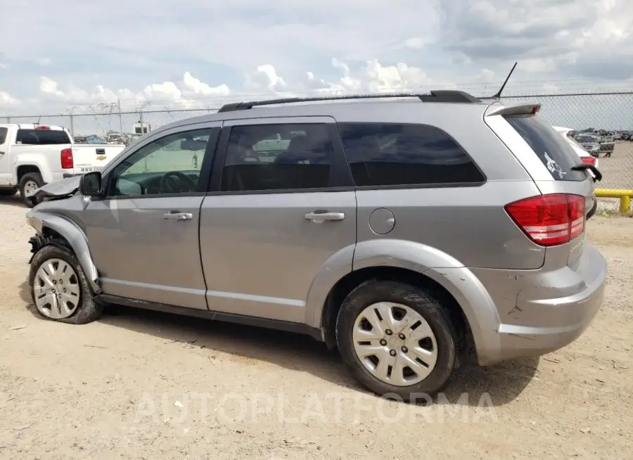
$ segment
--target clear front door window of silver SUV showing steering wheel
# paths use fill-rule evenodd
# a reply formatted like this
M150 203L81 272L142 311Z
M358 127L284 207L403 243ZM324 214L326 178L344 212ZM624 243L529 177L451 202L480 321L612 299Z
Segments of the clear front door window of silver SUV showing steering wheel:
M139 148L113 170L110 196L198 191L212 128L179 132Z

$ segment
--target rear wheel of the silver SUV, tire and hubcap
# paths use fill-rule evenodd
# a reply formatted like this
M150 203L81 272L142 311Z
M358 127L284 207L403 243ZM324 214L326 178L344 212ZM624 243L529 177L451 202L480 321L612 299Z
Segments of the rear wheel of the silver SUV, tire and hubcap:
M338 314L336 340L352 375L391 399L433 397L456 366L458 338L445 306L429 290L396 281L352 290Z

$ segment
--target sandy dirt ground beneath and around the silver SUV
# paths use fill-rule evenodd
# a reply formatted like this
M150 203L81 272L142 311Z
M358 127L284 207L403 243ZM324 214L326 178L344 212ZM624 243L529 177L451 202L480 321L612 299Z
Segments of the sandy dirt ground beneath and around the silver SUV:
M425 407L366 394L309 338L134 310L39 319L25 212L0 200L0 458L632 458L633 219L588 224L610 275L584 336L462 369Z

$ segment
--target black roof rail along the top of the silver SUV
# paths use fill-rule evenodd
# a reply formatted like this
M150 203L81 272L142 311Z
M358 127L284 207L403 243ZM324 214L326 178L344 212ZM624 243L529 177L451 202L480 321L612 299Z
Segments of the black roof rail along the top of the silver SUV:
M481 100L464 91L441 90L429 91L427 94L416 93L391 93L391 94L356 94L348 96L319 96L305 98L270 99L268 101L234 102L224 104L217 113L235 112L236 110L248 110L258 106L273 106L275 104L288 104L298 102L318 101L345 101L349 99L373 99L373 98L402 98L415 97L422 102L447 102L447 103L480 103Z

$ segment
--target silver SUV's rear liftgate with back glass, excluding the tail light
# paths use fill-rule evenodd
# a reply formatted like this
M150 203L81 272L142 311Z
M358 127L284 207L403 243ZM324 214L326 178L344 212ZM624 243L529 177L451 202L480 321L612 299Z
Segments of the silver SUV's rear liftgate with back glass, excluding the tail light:
M553 127L532 113L534 107L526 106L528 113L520 113L518 108L509 110L509 113L501 111L486 117L486 122L520 160L541 193L584 197L586 216L596 199L594 179L587 170L573 170L580 163L578 155ZM549 255L558 255L569 265L576 264L582 255L584 236L583 231L569 243L548 248Z

